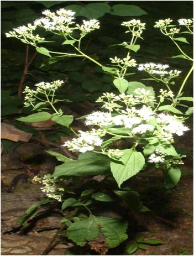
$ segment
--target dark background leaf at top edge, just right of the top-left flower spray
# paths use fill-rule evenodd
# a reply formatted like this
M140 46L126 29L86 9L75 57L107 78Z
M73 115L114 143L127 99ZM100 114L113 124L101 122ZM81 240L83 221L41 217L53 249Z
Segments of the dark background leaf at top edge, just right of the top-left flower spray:
M107 3L88 3L83 6L72 4L65 8L76 12L75 16L82 16L87 19L98 19L111 11L111 7Z

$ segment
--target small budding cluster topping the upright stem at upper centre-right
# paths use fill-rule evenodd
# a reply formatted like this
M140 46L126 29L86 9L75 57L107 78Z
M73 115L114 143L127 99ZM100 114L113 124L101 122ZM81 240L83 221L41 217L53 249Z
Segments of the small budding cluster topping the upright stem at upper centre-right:
M129 32L131 32L134 36L140 37L145 29L145 23L141 23L139 19L132 19L128 22L123 22L122 26L128 27Z

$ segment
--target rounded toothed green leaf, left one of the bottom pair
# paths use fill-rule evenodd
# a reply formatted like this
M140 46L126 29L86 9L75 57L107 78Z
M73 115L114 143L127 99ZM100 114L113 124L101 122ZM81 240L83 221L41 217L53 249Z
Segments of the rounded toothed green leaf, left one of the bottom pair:
M85 245L85 241L92 241L98 237L99 229L92 218L71 224L67 228L66 236L77 245Z

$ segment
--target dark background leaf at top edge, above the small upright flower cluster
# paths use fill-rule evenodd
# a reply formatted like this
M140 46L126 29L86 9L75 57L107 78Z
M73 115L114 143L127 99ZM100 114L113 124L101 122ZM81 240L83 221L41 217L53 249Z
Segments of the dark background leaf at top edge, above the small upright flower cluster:
M128 4L116 4L112 7L113 11L111 14L118 16L141 16L148 14L143 9L138 6L128 5Z

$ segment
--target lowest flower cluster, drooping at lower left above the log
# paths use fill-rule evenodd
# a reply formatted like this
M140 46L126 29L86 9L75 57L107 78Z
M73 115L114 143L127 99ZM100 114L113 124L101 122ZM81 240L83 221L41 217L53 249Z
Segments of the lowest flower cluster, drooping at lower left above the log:
M43 178L35 176L33 180L44 185L44 187L41 187L41 190L46 194L46 196L61 202L65 189L59 185L56 177L52 178L50 177L50 174L48 174Z

